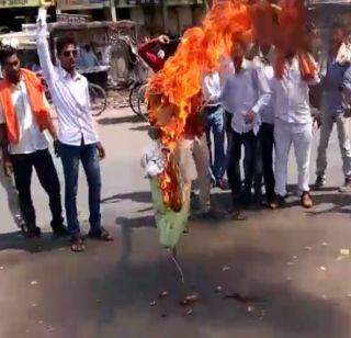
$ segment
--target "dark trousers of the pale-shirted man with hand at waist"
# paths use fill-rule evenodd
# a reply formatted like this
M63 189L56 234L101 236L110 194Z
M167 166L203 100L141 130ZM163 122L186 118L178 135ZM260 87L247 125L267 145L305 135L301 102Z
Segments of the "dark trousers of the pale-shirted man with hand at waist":
M245 198L250 198L252 183L254 193L261 194L262 169L260 160L259 138L253 132L238 134L231 132L231 146L229 154L229 164L227 169L228 180L234 200L237 200L241 194L241 146L245 148L244 159L244 194Z

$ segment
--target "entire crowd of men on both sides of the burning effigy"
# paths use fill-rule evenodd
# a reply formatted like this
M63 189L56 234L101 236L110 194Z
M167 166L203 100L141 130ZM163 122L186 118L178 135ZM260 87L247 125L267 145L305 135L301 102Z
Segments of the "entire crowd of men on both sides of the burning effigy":
M113 240L101 225L100 160L105 153L90 112L88 81L77 71L76 42L70 37L57 41L59 63L54 66L46 31L46 8L42 7L37 19L37 52L58 115L58 133L50 119L42 82L32 71L21 68L13 47L3 47L0 55L4 76L0 82L1 182L10 196L18 192L19 210L15 199L9 199L16 223L29 237L37 237L41 229L36 225L31 194L34 168L49 198L53 232L57 236L69 235L72 251L82 251L84 237L80 232L76 202L80 164L89 185L89 237ZM290 46L288 38L282 74L274 69L273 45L252 45L247 40L238 40L230 57L222 59L219 70L203 75L204 109L201 114L189 114L180 145L180 167L186 180L191 180L190 162L194 160L196 165L203 216L214 215L211 185L226 189L225 173L231 189L234 211L242 205L263 202L270 209L283 206L292 145L297 162L301 204L312 207L309 164L314 121L321 125L315 188L320 189L326 183L326 153L336 123L344 173L344 184L340 191L351 190L348 103L351 67L349 57L340 57L340 48L348 49L346 37L339 27L331 31L329 55L318 60L318 71L308 79L302 72L298 52ZM140 46L139 53L158 71L176 52L179 40L174 42L160 36ZM155 49L156 45L161 47ZM316 63L312 55L308 58ZM313 117L309 88L318 84L322 89L321 115ZM67 227L64 224L60 184L44 131L49 133L55 154L60 156L63 162ZM242 154L244 180L240 166ZM9 182L4 174L13 174L16 192L11 184L4 183Z

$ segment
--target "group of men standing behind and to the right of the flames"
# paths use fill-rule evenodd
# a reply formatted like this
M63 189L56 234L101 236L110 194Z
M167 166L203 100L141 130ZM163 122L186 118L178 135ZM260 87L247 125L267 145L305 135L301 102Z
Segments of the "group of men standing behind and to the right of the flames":
M312 54L307 55L318 70L308 79L302 74L301 56L293 44L290 45L291 41L287 36L283 46L284 72L281 77L274 69L275 46L247 40L235 43L230 57L222 59L218 71L204 74L203 120L196 122L195 132L186 133L186 128L194 125L190 114L184 139L180 144L181 168L188 170L191 156L195 162L203 216L216 215L210 202L211 184L225 190L225 173L231 189L234 211L252 203L270 209L284 206L292 145L301 204L312 207L309 165L313 131L320 127L314 185L318 190L326 184L327 148L335 123L344 173L340 192L351 191L348 35L342 27L335 26L330 31L327 55L321 55L318 60ZM140 46L141 57L155 71L163 67L167 57L160 50L168 50L168 45L169 40L162 35ZM346 49L342 57L340 49ZM314 92L321 91L318 110L312 106L312 87L318 89ZM262 185L265 199L262 198Z

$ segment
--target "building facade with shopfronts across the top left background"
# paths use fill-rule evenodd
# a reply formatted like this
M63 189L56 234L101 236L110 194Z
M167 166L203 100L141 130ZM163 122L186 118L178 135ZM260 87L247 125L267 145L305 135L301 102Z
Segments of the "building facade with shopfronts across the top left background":
M204 0L57 0L49 11L84 14L92 21L132 20L148 35L182 33L201 22ZM21 31L22 24L35 22L39 0L0 0L0 32Z

